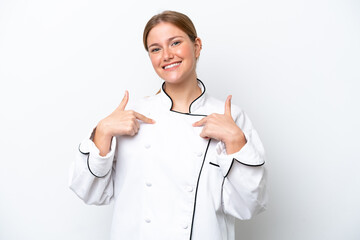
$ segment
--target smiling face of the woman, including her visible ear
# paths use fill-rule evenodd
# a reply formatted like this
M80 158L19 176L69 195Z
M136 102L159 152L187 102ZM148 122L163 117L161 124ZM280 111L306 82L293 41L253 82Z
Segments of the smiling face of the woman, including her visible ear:
M193 42L175 25L161 22L150 30L147 44L154 70L165 82L177 84L196 79L199 38Z

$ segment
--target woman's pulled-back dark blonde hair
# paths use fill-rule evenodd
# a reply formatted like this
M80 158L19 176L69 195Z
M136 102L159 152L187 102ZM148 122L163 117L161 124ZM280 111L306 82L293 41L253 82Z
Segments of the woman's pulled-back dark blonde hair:
M175 25L183 32L185 32L192 42L195 42L195 39L197 38L197 33L191 19L183 13L175 11L164 11L153 16L145 25L143 33L143 43L146 51L149 50L147 46L147 38L150 30L161 22L171 23Z

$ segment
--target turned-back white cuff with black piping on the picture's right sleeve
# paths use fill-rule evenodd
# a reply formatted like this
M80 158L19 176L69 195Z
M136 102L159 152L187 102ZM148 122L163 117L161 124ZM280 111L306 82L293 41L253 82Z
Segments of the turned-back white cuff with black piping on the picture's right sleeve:
M216 152L217 162L224 177L227 177L229 174L234 161L251 167L261 166L265 163L264 158L260 156L250 141L247 141L240 151L233 154L227 154L225 144L219 142L216 145Z

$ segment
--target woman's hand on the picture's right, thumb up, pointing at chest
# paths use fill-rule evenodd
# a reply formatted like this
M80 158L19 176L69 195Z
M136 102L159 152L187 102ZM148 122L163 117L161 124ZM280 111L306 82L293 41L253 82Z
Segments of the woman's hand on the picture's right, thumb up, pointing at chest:
M231 116L231 97L229 95L226 99L224 114L213 113L193 123L194 127L204 126L200 137L222 141L226 146L227 154L240 151L246 144L243 131L236 125Z

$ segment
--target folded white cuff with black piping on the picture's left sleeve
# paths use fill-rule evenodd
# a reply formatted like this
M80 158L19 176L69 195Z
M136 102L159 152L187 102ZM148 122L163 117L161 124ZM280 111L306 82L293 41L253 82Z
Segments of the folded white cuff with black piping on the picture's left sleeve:
M89 171L95 177L105 177L112 168L112 163L115 155L116 137L111 139L110 151L106 156L100 156L100 151L91 139L85 139L79 145L79 151L82 154L88 155L87 166Z

